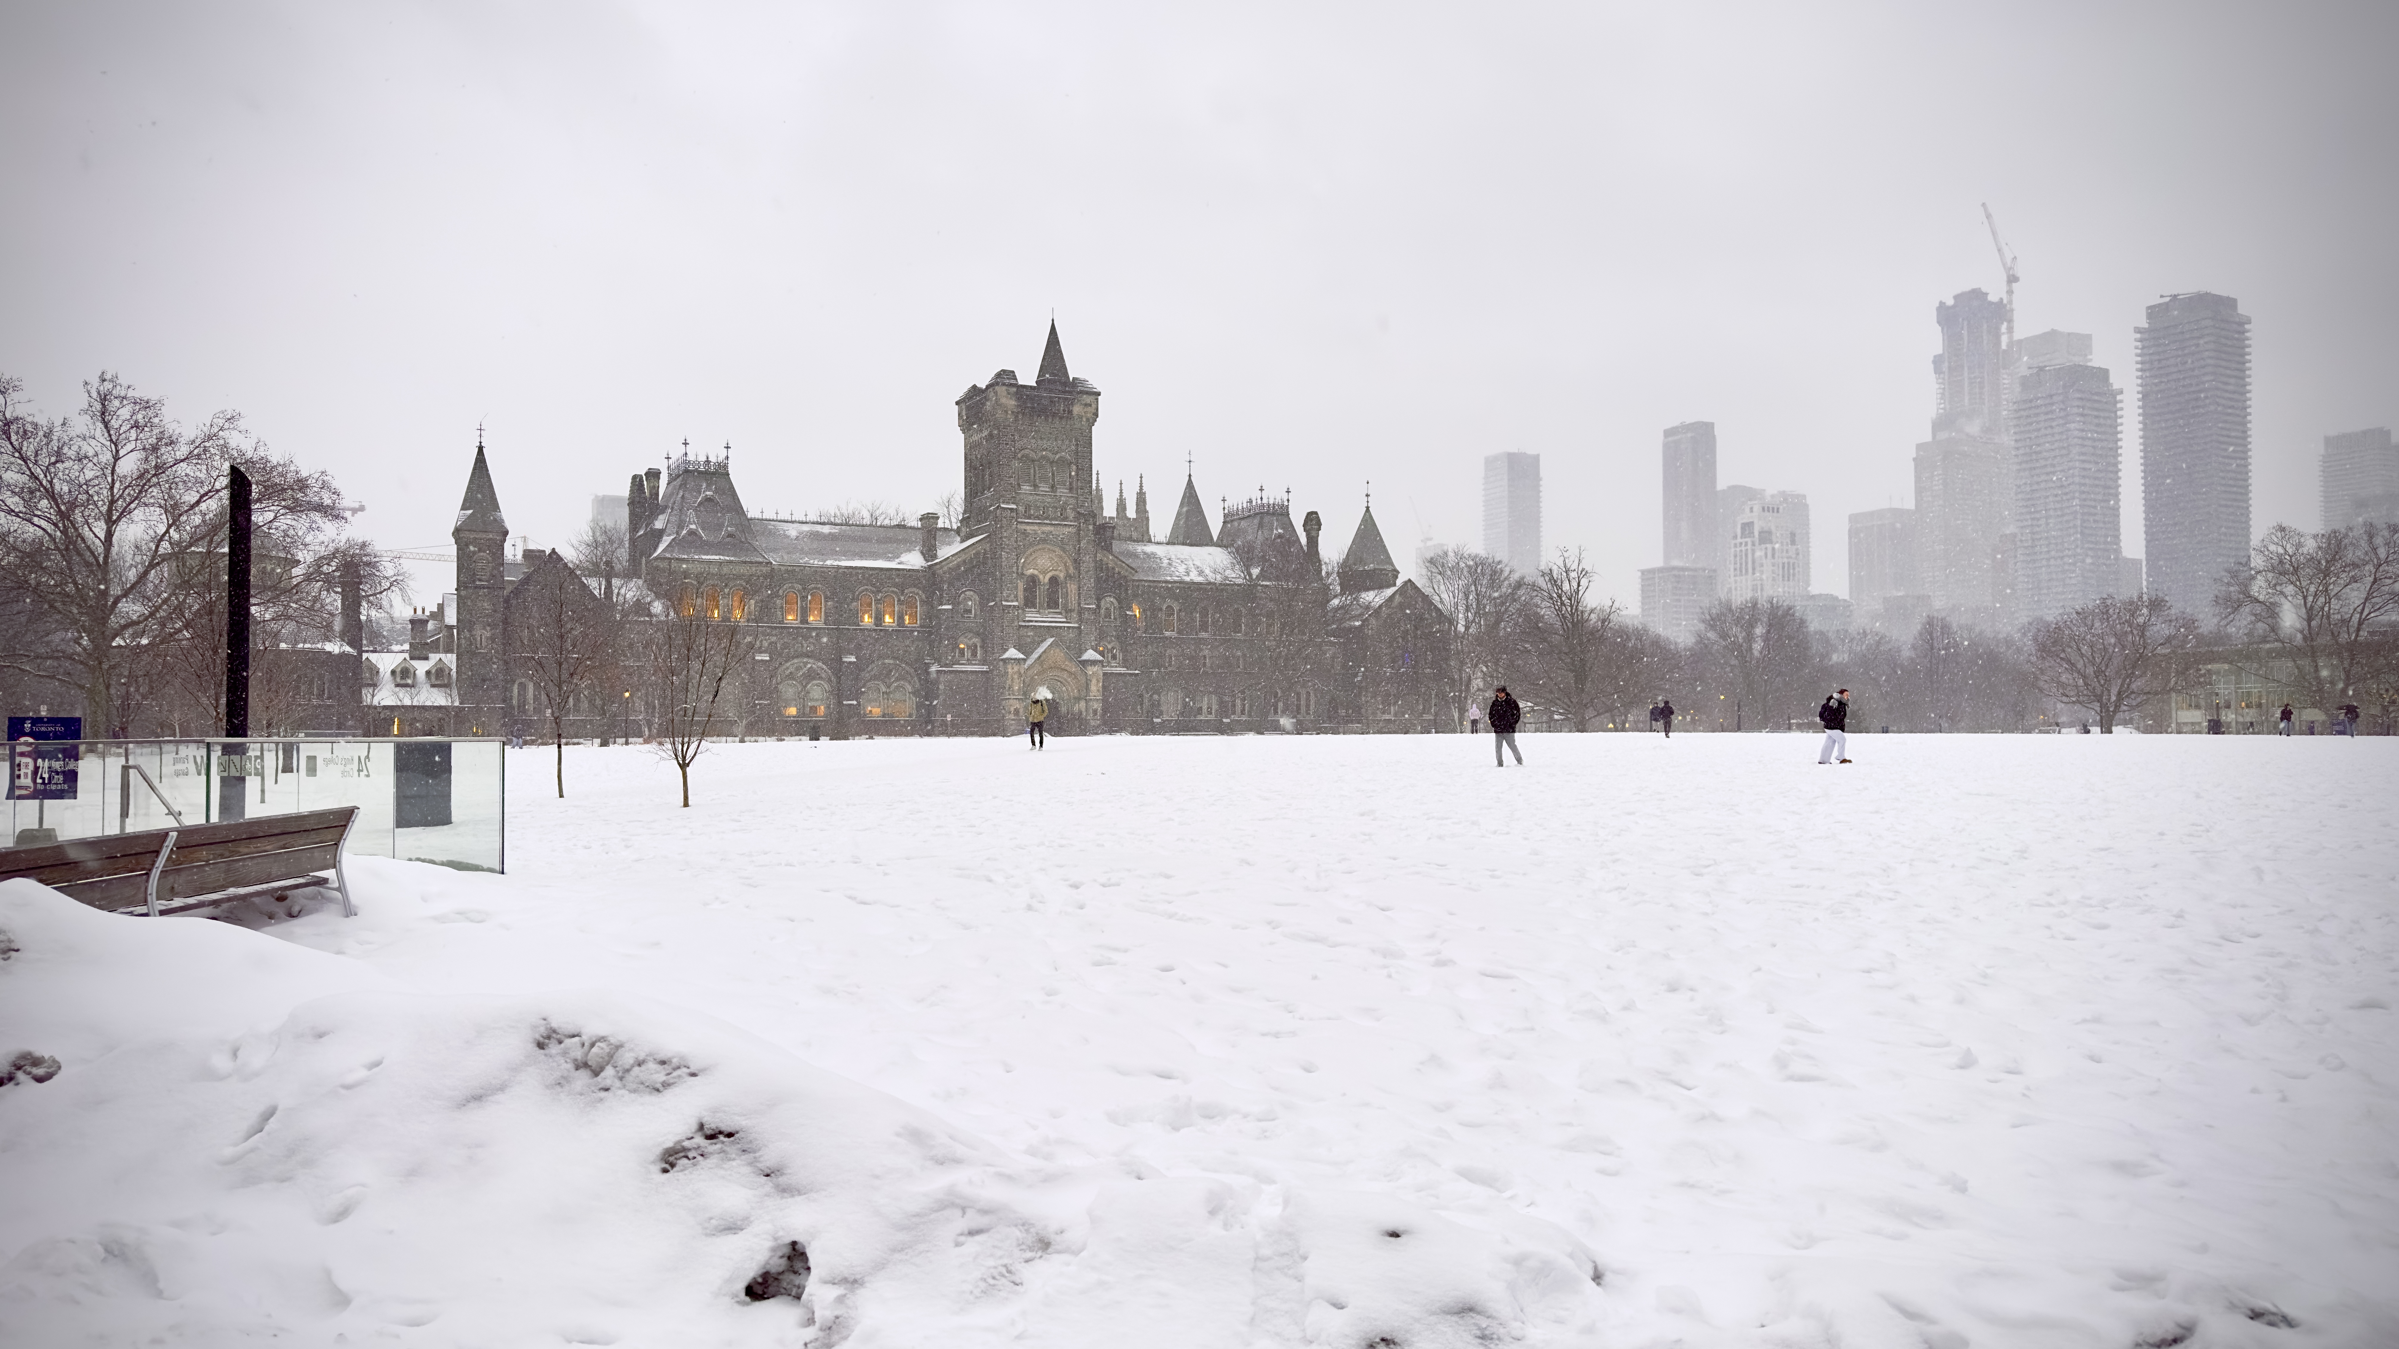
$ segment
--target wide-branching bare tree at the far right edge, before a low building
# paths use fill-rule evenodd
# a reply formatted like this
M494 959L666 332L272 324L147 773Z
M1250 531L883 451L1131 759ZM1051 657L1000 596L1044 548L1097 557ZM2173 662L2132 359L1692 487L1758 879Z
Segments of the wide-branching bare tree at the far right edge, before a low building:
M2332 711L2375 687L2399 619L2399 526L2265 530L2245 571L2217 588L2217 614L2284 658L2308 706Z

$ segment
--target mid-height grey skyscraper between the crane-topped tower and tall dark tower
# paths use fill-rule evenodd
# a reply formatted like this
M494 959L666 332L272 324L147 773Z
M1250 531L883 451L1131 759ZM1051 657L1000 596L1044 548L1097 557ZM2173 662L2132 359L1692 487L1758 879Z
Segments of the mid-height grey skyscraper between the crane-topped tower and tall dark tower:
M2085 341L2087 350L2087 341ZM2049 619L2123 586L2123 394L2097 365L2015 386L2015 612Z

